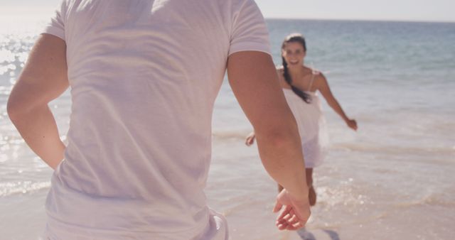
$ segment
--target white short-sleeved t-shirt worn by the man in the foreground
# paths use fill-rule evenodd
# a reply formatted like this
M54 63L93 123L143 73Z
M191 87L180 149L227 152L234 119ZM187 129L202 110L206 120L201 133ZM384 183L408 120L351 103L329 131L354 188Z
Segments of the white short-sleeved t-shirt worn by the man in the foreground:
M66 42L73 102L49 238L228 239L203 188L228 56L270 52L255 2L66 0L44 33Z

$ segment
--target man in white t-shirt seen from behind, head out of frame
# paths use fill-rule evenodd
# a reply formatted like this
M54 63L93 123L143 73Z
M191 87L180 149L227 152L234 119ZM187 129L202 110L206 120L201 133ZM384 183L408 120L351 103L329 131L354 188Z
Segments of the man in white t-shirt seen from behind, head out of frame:
M55 169L47 237L228 239L203 192L226 68L264 167L286 189L277 227L303 227L299 135L254 1L65 0L8 103L28 146ZM65 146L48 102L68 87Z

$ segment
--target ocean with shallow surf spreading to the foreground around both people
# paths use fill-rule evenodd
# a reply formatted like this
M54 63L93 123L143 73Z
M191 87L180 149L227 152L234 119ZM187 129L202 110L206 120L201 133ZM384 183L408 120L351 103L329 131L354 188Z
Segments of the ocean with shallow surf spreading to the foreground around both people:
M326 75L348 129L323 104L330 145L314 170L318 202L306 231L274 229L277 187L245 146L252 127L227 81L213 114L210 207L231 239L453 239L455 23L267 19L274 62L289 33L306 37L306 65ZM26 146L6 101L43 21L0 23L0 239L39 239L52 170ZM60 134L70 96L50 103ZM301 235L301 236L299 236Z

